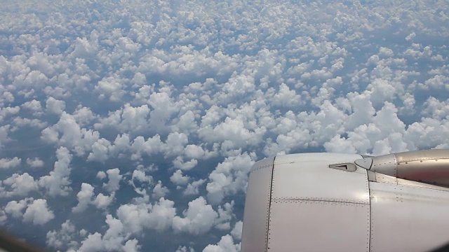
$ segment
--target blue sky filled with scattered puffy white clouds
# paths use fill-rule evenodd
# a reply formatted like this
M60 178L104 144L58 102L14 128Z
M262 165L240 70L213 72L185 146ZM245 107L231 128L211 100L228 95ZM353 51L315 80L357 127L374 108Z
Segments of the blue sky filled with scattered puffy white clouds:
M449 148L447 1L3 1L0 223L239 251L248 171Z

